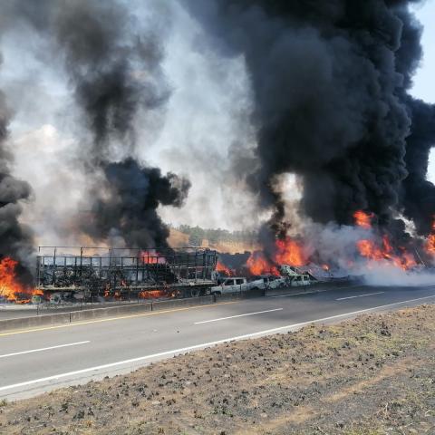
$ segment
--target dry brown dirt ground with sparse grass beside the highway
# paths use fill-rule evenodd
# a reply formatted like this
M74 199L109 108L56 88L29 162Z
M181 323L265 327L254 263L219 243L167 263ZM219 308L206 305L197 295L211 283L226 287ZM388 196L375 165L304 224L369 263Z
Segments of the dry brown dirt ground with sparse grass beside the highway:
M435 305L0 405L1 434L435 434Z

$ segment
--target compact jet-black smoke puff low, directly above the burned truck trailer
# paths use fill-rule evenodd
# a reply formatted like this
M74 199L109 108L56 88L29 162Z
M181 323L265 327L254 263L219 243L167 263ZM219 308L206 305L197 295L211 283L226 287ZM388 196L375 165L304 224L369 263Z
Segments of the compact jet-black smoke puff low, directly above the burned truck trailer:
M122 237L129 247L166 247L169 229L156 209L159 205L180 207L190 184L174 174L162 176L160 169L141 168L136 160L105 165L109 198L98 198L92 217L83 222L95 239Z

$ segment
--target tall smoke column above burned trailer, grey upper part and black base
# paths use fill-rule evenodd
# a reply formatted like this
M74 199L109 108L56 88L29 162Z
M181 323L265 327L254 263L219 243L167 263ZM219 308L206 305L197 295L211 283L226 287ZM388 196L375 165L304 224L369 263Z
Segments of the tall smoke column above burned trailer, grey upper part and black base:
M92 216L81 218L80 227L95 240L110 243L116 236L131 247L166 247L169 230L157 208L179 207L189 181L163 176L132 157L138 112L162 115L169 99L160 66L161 35L144 29L121 1L45 0L37 7L32 2L20 6L34 28L53 40L92 132L91 146L82 147L81 157L90 178L97 171L103 180L96 178Z

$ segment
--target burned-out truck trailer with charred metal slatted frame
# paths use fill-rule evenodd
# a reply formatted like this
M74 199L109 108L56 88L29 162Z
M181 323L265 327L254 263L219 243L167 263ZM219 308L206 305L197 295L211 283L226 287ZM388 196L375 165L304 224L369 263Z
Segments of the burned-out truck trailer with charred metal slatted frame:
M200 247L39 247L37 288L88 298L207 295L218 254Z

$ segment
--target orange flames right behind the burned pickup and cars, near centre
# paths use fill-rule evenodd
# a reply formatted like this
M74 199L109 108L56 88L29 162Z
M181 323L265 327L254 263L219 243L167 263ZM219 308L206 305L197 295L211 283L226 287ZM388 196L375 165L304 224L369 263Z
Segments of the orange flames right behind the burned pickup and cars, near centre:
M275 241L275 253L269 260L261 251L256 251L247 259L247 268L251 275L279 275L277 266L304 266L308 262L304 248L290 237Z

